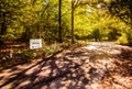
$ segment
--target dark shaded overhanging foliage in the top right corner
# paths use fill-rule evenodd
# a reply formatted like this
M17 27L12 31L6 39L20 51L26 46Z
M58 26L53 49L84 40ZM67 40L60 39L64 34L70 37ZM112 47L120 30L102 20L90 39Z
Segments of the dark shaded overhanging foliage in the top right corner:
M111 0L108 4L112 15L116 15L127 24L132 25L131 0Z

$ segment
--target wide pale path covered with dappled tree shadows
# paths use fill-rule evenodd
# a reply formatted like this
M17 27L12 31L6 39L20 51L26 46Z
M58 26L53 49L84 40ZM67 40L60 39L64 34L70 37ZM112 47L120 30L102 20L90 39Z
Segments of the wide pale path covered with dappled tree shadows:
M131 89L132 48L94 42L0 74L0 89Z

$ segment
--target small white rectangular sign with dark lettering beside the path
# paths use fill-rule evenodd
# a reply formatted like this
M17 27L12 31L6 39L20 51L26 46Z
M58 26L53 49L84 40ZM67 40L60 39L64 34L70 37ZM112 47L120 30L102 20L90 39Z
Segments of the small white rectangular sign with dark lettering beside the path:
M30 49L42 48L42 38L30 40Z

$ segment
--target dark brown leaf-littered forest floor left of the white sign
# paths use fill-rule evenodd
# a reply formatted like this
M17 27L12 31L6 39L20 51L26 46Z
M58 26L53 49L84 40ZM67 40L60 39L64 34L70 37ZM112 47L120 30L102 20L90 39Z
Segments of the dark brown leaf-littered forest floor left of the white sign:
M0 46L0 70L3 68L10 68L18 64L24 64L28 59L24 58L23 52L29 48L25 43L22 42L6 42ZM12 57L11 57L12 53Z

